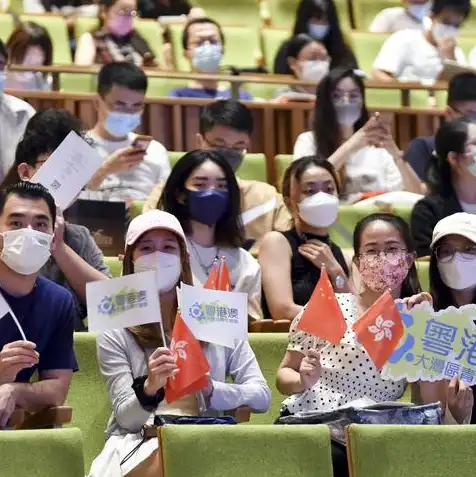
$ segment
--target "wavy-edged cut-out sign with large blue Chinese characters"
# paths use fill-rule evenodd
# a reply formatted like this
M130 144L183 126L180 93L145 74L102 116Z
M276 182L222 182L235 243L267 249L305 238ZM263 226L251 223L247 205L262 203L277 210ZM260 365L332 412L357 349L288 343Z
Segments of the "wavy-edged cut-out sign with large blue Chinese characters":
M476 384L476 306L433 311L422 303L408 311L398 303L404 335L382 369L383 379L440 381L458 376Z

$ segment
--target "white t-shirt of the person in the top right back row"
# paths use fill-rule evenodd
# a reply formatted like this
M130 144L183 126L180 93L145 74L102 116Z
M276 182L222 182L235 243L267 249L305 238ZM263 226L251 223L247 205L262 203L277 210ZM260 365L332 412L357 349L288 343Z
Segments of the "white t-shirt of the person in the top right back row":
M466 65L461 48L455 48L456 62ZM391 73L401 81L436 80L443 64L438 48L429 43L423 30L401 30L383 44L373 67Z

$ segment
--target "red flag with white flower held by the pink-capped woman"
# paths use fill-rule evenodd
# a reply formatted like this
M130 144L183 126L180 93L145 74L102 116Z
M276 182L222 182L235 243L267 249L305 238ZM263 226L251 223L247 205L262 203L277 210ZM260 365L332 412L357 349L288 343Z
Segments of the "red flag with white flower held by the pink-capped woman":
M180 371L167 380L165 399L169 404L208 386L207 373L210 370L200 343L183 321L180 312L175 318L170 350Z

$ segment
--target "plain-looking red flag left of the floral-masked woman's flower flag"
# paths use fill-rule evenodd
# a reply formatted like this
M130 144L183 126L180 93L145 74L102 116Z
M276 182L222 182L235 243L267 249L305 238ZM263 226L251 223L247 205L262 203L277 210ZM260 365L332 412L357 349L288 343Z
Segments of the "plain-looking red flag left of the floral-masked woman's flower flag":
M312 292L297 329L334 344L343 338L347 324L325 268Z

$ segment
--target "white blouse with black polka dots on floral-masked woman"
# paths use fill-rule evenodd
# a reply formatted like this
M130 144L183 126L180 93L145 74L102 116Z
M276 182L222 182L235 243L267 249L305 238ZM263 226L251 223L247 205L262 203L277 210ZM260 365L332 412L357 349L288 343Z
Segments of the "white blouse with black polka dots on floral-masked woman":
M375 402L396 401L405 390L405 381L384 381L365 349L357 342L352 324L358 319L357 299L350 293L336 293L337 301L348 325L338 345L327 343L296 327L302 312L289 331L288 351L305 355L310 349L321 351L322 374L316 385L283 402L291 414L299 411L333 411L357 399ZM327 319L316 316L316 320ZM328 346L326 346L328 345Z

